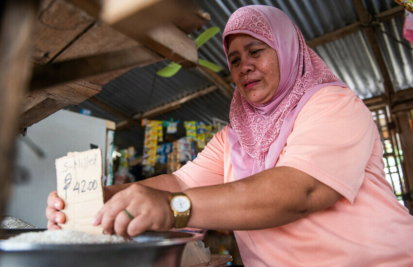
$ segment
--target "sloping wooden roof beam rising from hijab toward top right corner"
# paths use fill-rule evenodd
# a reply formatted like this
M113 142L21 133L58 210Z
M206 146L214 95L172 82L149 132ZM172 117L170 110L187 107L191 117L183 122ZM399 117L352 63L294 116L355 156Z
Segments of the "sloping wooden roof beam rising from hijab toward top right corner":
M403 15L403 13L404 13L403 7L397 6L387 11L384 11L382 13L379 13L378 15L375 16L375 19L377 19L378 22L383 22L383 21L392 19L394 17L401 16ZM367 21L369 22L369 20ZM369 27L369 23L356 22L356 23L347 25L343 28L340 28L336 31L333 31L331 33L327 33L320 37L308 40L306 41L306 43L310 48L314 48L316 46L325 45L331 41L340 39L351 33L356 33L365 27Z

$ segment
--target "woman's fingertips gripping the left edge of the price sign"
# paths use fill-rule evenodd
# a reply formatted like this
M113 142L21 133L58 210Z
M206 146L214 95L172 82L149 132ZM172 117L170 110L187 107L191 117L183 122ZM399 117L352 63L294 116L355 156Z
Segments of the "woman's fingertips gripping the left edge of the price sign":
M64 223L66 221L65 214L60 210L65 206L62 199L57 197L57 191L53 191L47 198L46 217L48 219L47 229L56 230L61 229L57 223Z

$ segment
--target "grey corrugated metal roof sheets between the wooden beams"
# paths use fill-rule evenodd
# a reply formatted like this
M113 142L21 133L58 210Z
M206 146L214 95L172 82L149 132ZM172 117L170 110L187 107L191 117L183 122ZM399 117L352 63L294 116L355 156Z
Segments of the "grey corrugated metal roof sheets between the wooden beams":
M196 38L212 26L221 29L220 33L199 48L199 57L223 67L224 70L219 73L222 77L229 75L222 49L222 32L228 17L241 6L266 4L280 8L296 23L306 40L359 21L351 0L202 0L197 2L201 9L211 15L211 20L199 31L192 33L191 37ZM398 6L393 0L363 2L367 11L373 15ZM375 27L379 47L396 90L413 87L413 50L412 44L402 37L403 21L404 17L399 16L379 23ZM383 77L363 31L317 46L314 51L361 99L378 96L384 92ZM211 85L196 71L186 69L181 69L172 78L155 76L155 71L167 64L169 61L132 69L104 85L102 93L96 98L128 116L133 116ZM227 121L229 103L230 100L219 91L214 91L186 102L180 108L162 114L156 119L204 120L209 123L213 117L218 117ZM81 107L91 109L92 114L97 117L121 120L87 101L78 106ZM128 128L115 134L115 144L120 148L127 147L129 144L134 145L139 151L142 143L143 129L140 127Z

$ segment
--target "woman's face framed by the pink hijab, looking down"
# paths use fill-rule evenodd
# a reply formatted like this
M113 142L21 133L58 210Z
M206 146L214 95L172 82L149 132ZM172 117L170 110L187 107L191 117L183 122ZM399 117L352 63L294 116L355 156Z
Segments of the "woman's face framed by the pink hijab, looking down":
M226 38L229 70L238 90L254 103L271 100L280 80L275 50L248 34L230 34Z

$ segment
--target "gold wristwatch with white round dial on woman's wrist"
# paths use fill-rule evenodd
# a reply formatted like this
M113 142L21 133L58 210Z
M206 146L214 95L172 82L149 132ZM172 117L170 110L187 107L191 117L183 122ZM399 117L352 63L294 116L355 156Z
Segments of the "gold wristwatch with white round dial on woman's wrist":
M170 205L175 218L175 228L187 227L191 208L191 201L187 195L182 192L172 193Z

